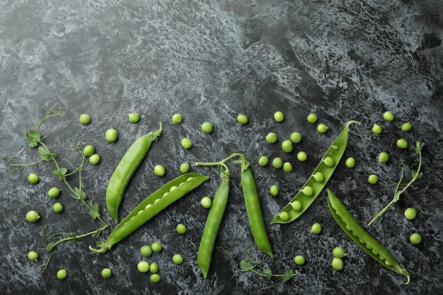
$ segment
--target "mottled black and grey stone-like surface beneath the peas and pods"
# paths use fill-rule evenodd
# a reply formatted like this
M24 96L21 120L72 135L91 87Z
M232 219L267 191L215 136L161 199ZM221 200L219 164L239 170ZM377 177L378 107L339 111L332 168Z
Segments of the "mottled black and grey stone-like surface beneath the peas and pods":
M257 251L257 260L275 273L293 269L297 277L285 284L268 281L252 273L237 272L229 259L214 252L207 279L196 262L207 209L200 198L213 196L219 184L217 168L192 168L211 179L191 195L180 199L104 255L88 250L96 243L83 238L59 245L47 271L38 276L39 264L26 258L29 250L47 259L42 226L51 232L86 233L98 229L67 188L51 175L50 163L23 168L16 173L0 164L0 293L1 294L438 294L443 289L443 6L439 0L343 0L343 1L125 1L125 0L36 0L3 1L0 4L0 115L2 156L18 163L38 159L27 147L25 130L35 128L42 112L34 105L59 105L63 118L51 118L41 127L45 143L61 161L75 161L69 141L96 146L102 161L84 169L83 184L88 198L100 204L102 216L115 225L105 211L105 189L120 157L137 137L163 122L164 132L153 144L127 189L120 218L167 180L179 175L180 163L217 161L232 152L245 153L252 163L260 202L275 258ZM284 122L272 119L282 110ZM382 114L391 110L393 122ZM139 112L137 124L127 114ZM180 112L183 123L171 116ZM315 112L328 125L326 134L306 122ZM91 124L78 123L82 113ZM236 122L239 113L250 122ZM410 271L404 277L381 267L364 253L335 223L323 191L297 221L270 225L316 167L327 147L347 120L352 125L345 157L354 156L357 166L343 162L328 183L361 224L387 204L400 173L401 160L413 164L413 151L396 148L405 137L413 144L426 143L423 175L408 188L393 211L368 229ZM202 122L214 125L212 134L200 131ZM413 129L401 132L403 122ZM384 132L375 136L377 123ZM115 127L120 137L114 144L104 132ZM295 151L284 154L279 144L264 140L274 131L282 139L294 131L304 135L296 146L309 160L300 163ZM190 137L194 146L185 150L180 139ZM380 151L391 155L389 163L377 161ZM292 173L270 166L262 168L261 155L282 156L294 165ZM156 164L166 167L163 178L154 175ZM65 162L67 165L67 162ZM239 261L241 241L252 241L241 196L238 167L231 165L229 205L217 245L227 245ZM40 175L30 185L28 173ZM380 176L369 185L367 176ZM76 184L76 178L69 181ZM270 185L280 195L269 194ZM58 201L62 214L52 212L49 187L63 192ZM403 210L415 207L413 221ZM37 224L25 221L25 213L37 210ZM175 233L178 223L188 226L185 236ZM323 225L321 234L309 232ZM107 237L110 229L103 232ZM412 245L410 233L423 241ZM163 251L148 261L159 262L161 282L152 284L149 275L137 271L142 260L139 248L153 241ZM345 248L345 267L330 266L331 250ZM181 253L183 265L171 257ZM306 258L304 266L293 262ZM103 267L113 270L103 279ZM59 281L64 268L67 279ZM129 292L129 293L128 293Z

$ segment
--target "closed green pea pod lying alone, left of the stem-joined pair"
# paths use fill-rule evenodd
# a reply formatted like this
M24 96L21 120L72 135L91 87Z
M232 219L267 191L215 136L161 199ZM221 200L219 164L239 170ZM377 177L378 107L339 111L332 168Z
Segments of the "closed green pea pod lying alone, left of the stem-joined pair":
M115 168L109 180L108 187L106 188L106 208L115 222L118 222L118 208L120 207L132 175L134 175L135 170L137 170L148 153L152 141L156 140L162 131L163 127L160 123L158 130L139 137L139 139L134 141L130 148L127 149L120 163L118 163L117 168Z

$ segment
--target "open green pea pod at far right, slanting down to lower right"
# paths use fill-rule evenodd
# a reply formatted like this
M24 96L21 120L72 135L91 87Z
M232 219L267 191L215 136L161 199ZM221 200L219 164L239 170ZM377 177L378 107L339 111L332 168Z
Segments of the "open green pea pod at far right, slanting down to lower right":
M410 275L408 270L406 270L403 265L399 265L391 253L389 253L383 245L363 229L350 212L347 211L340 199L338 199L338 197L330 190L328 190L328 207L335 221L337 221L338 225L343 231L345 231L352 241L359 245L364 252L368 253L384 267L393 270L398 274L403 274L408 279L406 284L409 284Z

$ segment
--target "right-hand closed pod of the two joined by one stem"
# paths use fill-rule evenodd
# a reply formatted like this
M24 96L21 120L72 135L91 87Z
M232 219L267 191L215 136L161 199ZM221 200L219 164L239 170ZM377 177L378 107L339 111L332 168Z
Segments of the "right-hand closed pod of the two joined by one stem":
M245 199L246 212L248 214L249 225L251 232L257 245L263 253L273 258L272 248L265 229L265 222L263 221L263 214L260 207L260 200L258 199L257 187L255 180L249 168L250 164L245 155L241 155L241 187L243 189L243 198Z

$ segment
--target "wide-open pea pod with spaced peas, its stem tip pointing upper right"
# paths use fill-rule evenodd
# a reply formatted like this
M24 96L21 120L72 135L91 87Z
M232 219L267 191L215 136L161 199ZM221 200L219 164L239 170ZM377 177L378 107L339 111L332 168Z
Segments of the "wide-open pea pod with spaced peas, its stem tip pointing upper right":
M318 197L345 152L349 126L352 123L360 124L357 121L345 122L342 131L330 145L320 163L318 163L318 166L313 170L313 173L303 187L301 187L301 190L299 190L297 195L272 219L271 224L287 224L294 221L303 214L316 197Z

